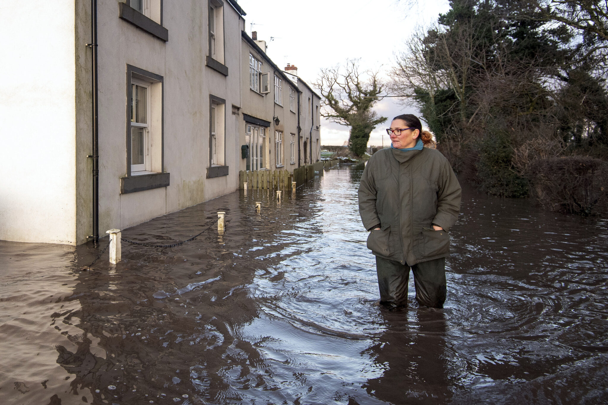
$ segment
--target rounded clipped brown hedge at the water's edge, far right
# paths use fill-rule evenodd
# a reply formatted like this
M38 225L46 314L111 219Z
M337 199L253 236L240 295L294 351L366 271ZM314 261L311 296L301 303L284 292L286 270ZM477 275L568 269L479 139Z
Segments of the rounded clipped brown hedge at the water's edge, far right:
M608 214L608 162L588 156L537 159L528 166L538 202L567 214Z

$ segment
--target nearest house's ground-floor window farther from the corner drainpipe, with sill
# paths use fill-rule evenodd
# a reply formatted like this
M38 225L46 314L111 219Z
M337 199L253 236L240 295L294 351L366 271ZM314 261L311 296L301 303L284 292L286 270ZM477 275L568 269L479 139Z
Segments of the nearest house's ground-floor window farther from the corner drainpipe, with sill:
M207 178L227 175L225 165L226 100L209 95L209 170Z

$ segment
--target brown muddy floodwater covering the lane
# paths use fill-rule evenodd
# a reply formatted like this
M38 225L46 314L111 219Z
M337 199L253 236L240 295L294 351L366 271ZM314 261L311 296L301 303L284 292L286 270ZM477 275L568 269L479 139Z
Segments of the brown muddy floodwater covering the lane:
M0 404L608 401L608 223L466 190L443 310L378 307L362 167L235 192L101 247L0 242ZM262 201L260 214L255 201ZM410 279L411 281L411 279Z

